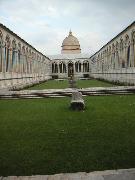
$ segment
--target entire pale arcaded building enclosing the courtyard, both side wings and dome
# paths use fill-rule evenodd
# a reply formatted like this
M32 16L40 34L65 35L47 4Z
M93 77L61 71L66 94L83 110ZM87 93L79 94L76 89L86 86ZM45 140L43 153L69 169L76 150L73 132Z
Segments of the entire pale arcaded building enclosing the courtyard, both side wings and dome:
M0 89L71 74L135 85L135 22L91 57L81 53L71 31L62 43L61 54L47 57L0 24Z

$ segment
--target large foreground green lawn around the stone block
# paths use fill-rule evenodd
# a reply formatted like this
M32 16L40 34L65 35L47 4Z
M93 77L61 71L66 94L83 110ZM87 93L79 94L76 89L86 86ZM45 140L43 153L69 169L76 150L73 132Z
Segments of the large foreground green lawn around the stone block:
M0 175L135 167L135 96L0 100Z

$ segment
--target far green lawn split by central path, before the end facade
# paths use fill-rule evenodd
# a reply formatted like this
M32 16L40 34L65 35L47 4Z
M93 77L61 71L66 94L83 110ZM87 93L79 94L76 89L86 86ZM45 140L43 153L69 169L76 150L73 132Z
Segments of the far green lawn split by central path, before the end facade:
M78 80L77 81L77 87L78 88L87 88L87 87L108 87L108 86L114 86L111 83L98 81L98 80ZM45 83L30 87L29 89L63 89L68 88L68 80L64 81L55 81L50 80Z

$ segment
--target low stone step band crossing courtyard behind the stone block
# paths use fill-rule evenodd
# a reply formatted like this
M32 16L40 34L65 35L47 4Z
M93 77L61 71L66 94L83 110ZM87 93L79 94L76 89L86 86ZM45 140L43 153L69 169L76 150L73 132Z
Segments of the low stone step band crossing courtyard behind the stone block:
M107 95L132 95L135 94L135 86L99 87L76 89L83 96L107 96ZM48 97L71 97L75 89L45 89L45 90L0 90L0 99L8 98L48 98Z

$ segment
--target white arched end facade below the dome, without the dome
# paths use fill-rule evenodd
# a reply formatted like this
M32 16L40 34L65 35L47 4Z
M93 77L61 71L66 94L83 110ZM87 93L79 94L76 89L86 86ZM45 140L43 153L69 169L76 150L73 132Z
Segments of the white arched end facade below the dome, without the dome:
M52 77L76 78L89 77L89 55L86 54L60 54L50 56L52 60Z

